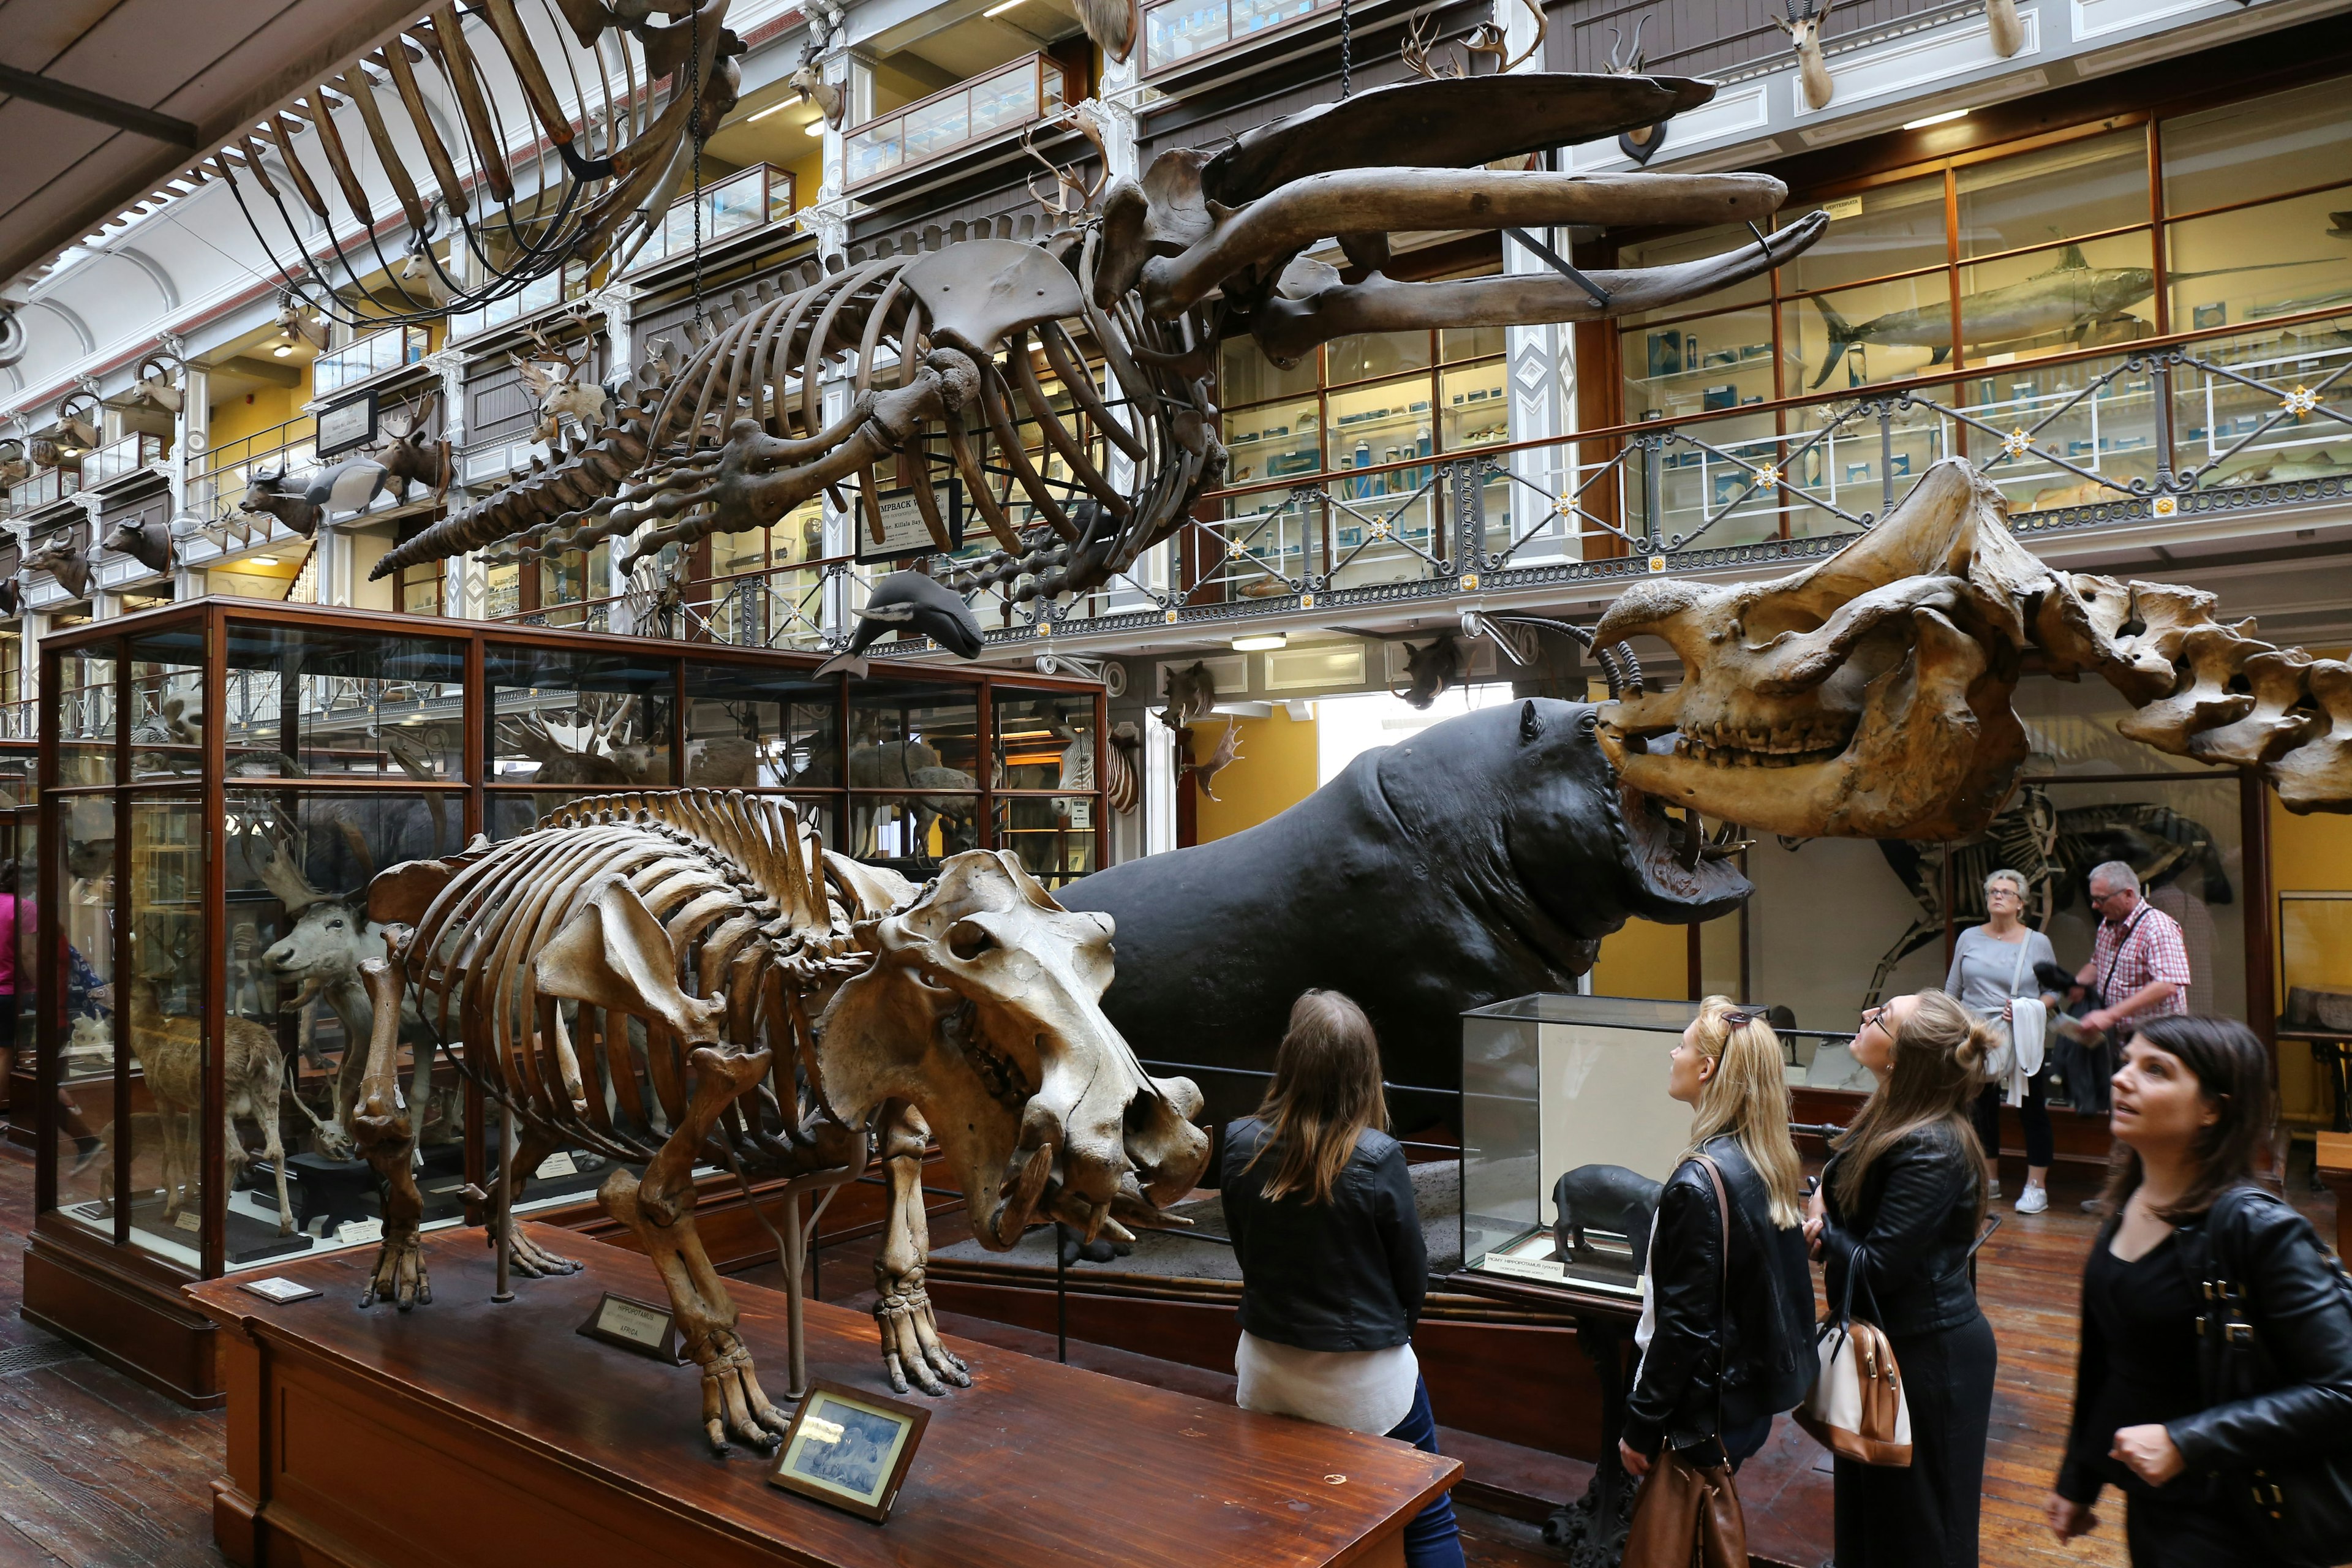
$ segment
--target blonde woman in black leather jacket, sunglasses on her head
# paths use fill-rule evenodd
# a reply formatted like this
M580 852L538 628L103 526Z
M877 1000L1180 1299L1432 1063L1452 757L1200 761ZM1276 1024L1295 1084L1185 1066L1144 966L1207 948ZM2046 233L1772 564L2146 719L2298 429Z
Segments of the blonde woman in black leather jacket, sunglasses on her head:
M1665 1093L1696 1117L1649 1232L1646 1338L1637 1335L1642 1366L1618 1443L1637 1476L1661 1443L1691 1450L1719 1441L1738 1467L1813 1380L1813 1276L1780 1039L1762 1013L1708 997L1675 1046ZM1698 1154L1722 1171L1731 1199L1729 1260ZM1710 1467L1715 1455L1693 1462Z

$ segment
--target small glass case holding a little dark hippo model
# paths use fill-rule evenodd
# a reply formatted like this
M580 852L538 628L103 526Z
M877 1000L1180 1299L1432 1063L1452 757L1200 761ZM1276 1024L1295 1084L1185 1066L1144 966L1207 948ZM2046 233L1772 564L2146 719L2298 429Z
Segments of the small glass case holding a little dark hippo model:
M1463 1013L1463 1267L1639 1298L1656 1187L1691 1143L1665 1095L1696 1001L1536 994ZM1571 1204L1555 1204L1571 1178ZM1644 1206L1646 1197L1646 1206ZM1581 1244L1562 1255L1562 1220Z

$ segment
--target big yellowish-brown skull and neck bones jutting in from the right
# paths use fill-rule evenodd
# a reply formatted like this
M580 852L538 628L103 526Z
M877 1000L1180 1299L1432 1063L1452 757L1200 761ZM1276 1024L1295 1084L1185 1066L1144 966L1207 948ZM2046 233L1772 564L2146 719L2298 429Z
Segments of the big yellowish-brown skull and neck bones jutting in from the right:
M2220 625L2213 597L2058 574L2002 494L1936 463L1875 529L1766 583L1644 583L1595 639L1663 637L1682 686L1609 708L1628 788L1792 837L1959 839L2009 799L2032 654L2105 677L2122 733L2260 766L2291 811L2352 811L2352 665Z

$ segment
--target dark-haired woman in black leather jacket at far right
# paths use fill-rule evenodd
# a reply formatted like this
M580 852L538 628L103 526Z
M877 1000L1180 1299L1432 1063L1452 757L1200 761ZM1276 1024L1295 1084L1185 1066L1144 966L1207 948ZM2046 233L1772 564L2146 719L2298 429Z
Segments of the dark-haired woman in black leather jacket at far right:
M2251 1481L2352 1458L2352 1286L2310 1222L2253 1185L2270 1135L2270 1053L2230 1018L2145 1018L2114 1079L2110 1220L2082 1276L2082 1359L2058 1540L2124 1493L2136 1568L2293 1568L2253 1516ZM2223 1361L2258 1354L2251 1396ZM2352 1537L2324 1561L2352 1556Z

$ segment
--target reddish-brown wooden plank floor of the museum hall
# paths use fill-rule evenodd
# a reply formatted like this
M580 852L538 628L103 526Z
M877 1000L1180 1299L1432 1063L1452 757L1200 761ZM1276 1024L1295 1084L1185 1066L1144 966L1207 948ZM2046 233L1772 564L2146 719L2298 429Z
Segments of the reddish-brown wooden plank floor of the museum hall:
M2020 1171L2006 1171L2011 1194ZM2093 1190L2091 1173L2060 1168L2046 1215L2023 1218L2006 1206L2002 1229L1985 1244L1980 1293L2002 1347L1992 1403L1992 1453L1985 1472L1983 1561L1999 1568L2056 1563L2122 1566L2122 1516L2107 1507L2096 1537L2060 1549L2042 1528L2042 1497L2058 1465L2060 1436L2074 1382L2074 1314L2082 1260L2096 1220L2077 1208ZM2333 1199L2291 1180L2296 1204L2333 1232ZM33 1208L33 1168L16 1150L0 1150L0 1568L221 1568L212 1547L212 1476L221 1469L221 1415L181 1410L129 1378L73 1352L71 1345L24 1324L24 1237ZM934 1222L946 1239L955 1225ZM826 1295L856 1302L868 1288L870 1248L842 1248L826 1260ZM527 1284L524 1284L527 1288ZM995 1324L957 1324L976 1338L1023 1335ZM1016 1349L1037 1352L1025 1335ZM31 1366L24 1366L31 1361ZM1230 1389L1230 1378L1124 1352L1073 1347L1073 1361L1094 1371L1197 1392L1202 1380ZM1230 1394L1228 1394L1230 1396ZM1809 1469L1797 1453L1778 1453L1773 1469ZM1802 1439L1797 1439L1802 1441ZM1569 1486L1581 1465L1562 1460L1555 1486ZM1762 1474L1757 1476L1764 1479ZM1828 1488L1797 1488L1806 1509L1823 1509ZM1771 1509L1788 1512L1792 1488L1776 1483ZM1762 1500L1759 1500L1762 1502ZM1802 1533L1828 1542L1828 1519L1813 1530L1797 1519L1776 1521L1776 1535ZM1534 1526L1463 1509L1463 1542L1472 1568L1557 1563ZM1778 1544L1778 1542L1776 1542ZM1778 1547L1788 1556L1785 1547ZM1828 1547L1813 1568L1828 1559Z

